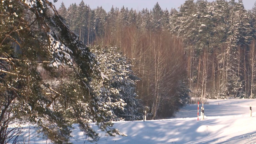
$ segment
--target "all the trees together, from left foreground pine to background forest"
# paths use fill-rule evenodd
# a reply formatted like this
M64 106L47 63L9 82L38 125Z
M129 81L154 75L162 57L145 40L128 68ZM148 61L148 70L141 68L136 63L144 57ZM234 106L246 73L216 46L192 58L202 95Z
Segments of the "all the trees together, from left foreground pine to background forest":
M142 120L145 110L162 119L191 98L256 98L256 3L187 0L178 10L156 3L140 11L83 0L0 4L0 144L16 143L13 124L36 124L58 144L78 124L97 141L92 123L124 135L112 122Z

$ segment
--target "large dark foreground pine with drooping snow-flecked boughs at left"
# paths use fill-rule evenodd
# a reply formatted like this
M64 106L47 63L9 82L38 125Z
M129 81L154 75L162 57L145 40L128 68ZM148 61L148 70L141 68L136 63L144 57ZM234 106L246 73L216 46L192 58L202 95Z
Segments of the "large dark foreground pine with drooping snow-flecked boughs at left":
M10 125L24 122L36 124L53 143L68 143L73 123L89 140L98 140L91 122L120 134L90 84L101 79L95 55L55 7L47 0L0 3L0 143L15 142L19 131Z

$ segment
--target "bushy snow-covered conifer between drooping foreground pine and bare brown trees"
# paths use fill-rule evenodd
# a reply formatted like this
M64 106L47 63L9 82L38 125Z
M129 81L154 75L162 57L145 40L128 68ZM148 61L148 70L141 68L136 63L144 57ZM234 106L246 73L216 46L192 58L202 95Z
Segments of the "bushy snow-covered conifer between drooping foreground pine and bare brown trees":
M132 72L131 61L117 52L116 47L97 45L92 47L92 51L96 54L102 77L101 80L94 79L92 85L103 107L111 114L107 119L132 120L132 111L134 120L142 119L143 106L136 99L136 92L133 96L130 94L130 89L135 88L139 80Z

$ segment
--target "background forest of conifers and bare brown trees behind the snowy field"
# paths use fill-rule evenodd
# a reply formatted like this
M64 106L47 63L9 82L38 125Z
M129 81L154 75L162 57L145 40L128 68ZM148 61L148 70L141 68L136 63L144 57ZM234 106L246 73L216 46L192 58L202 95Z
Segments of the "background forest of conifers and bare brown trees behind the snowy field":
M255 14L242 0L187 0L179 11L62 3L59 14L85 44L114 45L130 59L139 98L153 118L191 97L254 98ZM200 99L200 100L201 100Z

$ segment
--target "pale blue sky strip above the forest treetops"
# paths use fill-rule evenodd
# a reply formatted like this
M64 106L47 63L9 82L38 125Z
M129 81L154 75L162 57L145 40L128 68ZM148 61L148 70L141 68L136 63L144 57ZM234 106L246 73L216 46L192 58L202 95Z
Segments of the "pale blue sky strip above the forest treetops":
M53 0L50 1L53 2ZM58 0L58 2L54 3L54 5L57 9L59 9L60 4L64 2L65 6L68 8L70 4L79 4L81 1L82 0ZM128 7L129 9L133 8L135 10L141 10L143 8L152 9L156 2L160 4L162 9L167 8L170 10L171 8L177 9L185 1L186 0L84 0L84 3L89 4L92 9L96 8L97 6L102 6L108 12L112 5L118 8L121 8L124 5L124 7ZM243 3L244 7L247 10L250 10L254 5L255 0L243 0Z

